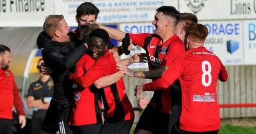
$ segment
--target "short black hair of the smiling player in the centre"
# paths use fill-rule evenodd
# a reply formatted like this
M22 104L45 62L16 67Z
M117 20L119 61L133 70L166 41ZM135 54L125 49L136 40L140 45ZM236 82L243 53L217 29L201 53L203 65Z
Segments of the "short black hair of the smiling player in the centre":
M99 37L99 38L102 38L102 40L104 40L106 43L108 43L109 41L109 35L108 35L108 32L104 29L100 29L100 28L97 28L97 29L94 29L90 35L89 35L89 39L92 38L92 37Z

